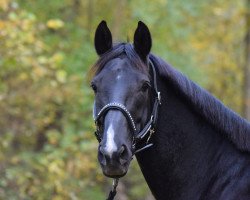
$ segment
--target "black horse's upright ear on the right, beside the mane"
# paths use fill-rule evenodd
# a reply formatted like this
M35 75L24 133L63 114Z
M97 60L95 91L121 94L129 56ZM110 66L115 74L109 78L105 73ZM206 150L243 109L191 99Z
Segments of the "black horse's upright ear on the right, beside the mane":
M152 46L152 39L148 27L138 22L134 35L134 48L143 61L146 60Z

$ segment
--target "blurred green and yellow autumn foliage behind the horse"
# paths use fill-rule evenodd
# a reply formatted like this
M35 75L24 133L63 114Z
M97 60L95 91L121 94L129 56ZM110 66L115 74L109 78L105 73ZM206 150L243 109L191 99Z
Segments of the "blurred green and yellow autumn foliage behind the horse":
M88 71L105 19L250 119L249 0L0 0L0 199L104 199ZM136 160L120 200L153 199Z

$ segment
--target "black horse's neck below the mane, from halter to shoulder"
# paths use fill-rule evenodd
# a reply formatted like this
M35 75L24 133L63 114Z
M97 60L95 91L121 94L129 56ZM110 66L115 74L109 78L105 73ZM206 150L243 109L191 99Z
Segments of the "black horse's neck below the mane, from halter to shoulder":
M162 105L154 146L137 155L156 199L196 199L205 189L218 159L237 154L221 134L195 113L166 81L159 81ZM211 174L211 175L210 175Z

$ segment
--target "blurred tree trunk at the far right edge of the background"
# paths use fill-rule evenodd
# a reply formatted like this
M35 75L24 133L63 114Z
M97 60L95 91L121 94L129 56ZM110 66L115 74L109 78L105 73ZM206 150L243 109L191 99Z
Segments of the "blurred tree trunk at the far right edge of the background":
M244 66L244 117L250 120L250 0L247 0L245 66Z

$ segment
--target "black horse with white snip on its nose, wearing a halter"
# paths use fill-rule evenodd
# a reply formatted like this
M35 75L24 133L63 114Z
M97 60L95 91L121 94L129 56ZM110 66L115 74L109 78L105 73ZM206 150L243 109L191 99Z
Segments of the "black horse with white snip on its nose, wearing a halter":
M249 122L151 54L151 44L142 22L133 45L113 44L105 21L97 27L91 86L103 173L124 176L137 153L156 199L249 200Z

